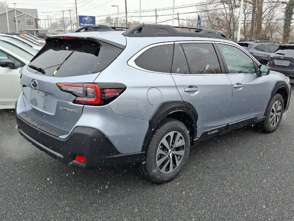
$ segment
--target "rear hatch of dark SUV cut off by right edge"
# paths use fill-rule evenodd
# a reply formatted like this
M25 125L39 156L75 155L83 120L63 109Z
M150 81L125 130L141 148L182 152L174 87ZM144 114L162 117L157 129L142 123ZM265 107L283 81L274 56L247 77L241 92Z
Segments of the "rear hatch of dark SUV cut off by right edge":
M294 70L294 46L280 45L269 59L270 68Z

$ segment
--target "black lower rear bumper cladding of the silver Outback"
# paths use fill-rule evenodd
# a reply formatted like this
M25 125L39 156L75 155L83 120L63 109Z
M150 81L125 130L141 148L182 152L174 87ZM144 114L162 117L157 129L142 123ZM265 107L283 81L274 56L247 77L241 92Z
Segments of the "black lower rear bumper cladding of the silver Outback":
M121 154L108 138L95 128L74 128L66 139L35 127L16 114L19 133L31 144L50 156L78 167L98 168L111 165L143 162L145 152ZM75 161L75 156L84 156L86 162Z

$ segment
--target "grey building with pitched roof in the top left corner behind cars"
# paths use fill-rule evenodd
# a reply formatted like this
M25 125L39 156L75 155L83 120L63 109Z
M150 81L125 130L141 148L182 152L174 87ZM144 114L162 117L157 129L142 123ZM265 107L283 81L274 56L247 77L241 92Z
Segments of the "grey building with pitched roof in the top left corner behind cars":
M9 32L19 33L30 33L36 36L38 31L43 29L39 29L38 21L38 11L37 9L14 9L7 8L8 12L8 23L9 23ZM16 14L16 16L15 16ZM6 17L6 8L0 8L0 31L8 32L7 27L7 17ZM44 30L43 30L44 31Z

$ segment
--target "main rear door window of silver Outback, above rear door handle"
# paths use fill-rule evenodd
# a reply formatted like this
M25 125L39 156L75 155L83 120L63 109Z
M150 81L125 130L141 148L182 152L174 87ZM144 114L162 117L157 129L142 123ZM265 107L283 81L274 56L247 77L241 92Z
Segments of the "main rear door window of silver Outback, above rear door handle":
M191 74L220 74L220 65L211 43L185 43L183 50Z

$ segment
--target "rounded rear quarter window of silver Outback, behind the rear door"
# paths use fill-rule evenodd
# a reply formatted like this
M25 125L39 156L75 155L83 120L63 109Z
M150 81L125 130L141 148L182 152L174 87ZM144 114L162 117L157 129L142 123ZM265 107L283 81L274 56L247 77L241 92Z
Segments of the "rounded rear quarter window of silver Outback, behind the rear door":
M172 60L173 44L164 44L143 52L135 64L148 71L171 73Z

